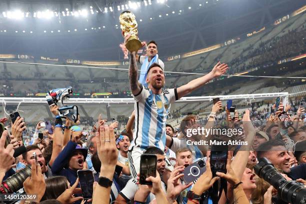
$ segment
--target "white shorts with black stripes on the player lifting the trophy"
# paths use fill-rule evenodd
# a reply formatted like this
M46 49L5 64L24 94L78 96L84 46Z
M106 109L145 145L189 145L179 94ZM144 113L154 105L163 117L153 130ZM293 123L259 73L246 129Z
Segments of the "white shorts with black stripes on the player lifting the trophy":
M129 162L130 174L133 178L137 177L137 173L140 170L140 155L144 150L141 150L139 147L133 146L131 150L128 150L127 157Z

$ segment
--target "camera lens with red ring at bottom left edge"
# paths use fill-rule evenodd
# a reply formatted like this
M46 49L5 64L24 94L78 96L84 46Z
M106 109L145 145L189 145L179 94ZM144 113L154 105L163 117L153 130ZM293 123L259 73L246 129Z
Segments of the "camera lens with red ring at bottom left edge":
M25 166L12 176L6 178L0 185L0 193L13 193L17 192L23 187L24 180L31 176L31 167L29 165Z

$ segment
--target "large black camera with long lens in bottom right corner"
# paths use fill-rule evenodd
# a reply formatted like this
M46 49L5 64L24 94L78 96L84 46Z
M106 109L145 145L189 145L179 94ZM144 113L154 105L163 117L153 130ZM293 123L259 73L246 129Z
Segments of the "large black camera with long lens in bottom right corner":
M306 188L301 183L286 180L265 157L258 161L254 166L255 173L277 189L281 200L292 204L306 203Z

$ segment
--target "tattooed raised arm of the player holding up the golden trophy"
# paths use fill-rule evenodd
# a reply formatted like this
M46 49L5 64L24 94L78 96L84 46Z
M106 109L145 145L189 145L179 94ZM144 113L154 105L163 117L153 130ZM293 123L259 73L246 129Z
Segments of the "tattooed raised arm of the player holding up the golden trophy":
M138 81L137 73L137 62L136 62L136 53L133 51L130 53L129 59L129 69L128 69L128 79L130 91L133 95L137 95L141 90L141 84Z

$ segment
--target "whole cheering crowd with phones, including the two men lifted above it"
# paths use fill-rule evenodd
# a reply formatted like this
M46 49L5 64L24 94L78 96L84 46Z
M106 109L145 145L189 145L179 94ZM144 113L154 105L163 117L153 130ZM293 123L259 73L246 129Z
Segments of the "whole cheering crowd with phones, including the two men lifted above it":
M125 40L128 37L125 35ZM62 104L55 100L49 104L54 116L51 129L38 122L32 139L22 140L28 127L19 116L10 128L3 129L1 193L34 194L20 200L32 204L306 201L304 99L292 102L292 107L279 102L263 111L257 111L254 104L251 112L232 113L232 107L226 106L225 114L220 114L221 101L214 101L205 119L189 114L176 132L167 124L170 103L221 76L228 66L217 62L206 75L163 89L166 67L158 58L157 43L150 41L146 46L147 56L129 55L128 78L135 103L123 131L115 131L117 121L108 123L99 115L85 134L79 115L74 121L61 115L58 108ZM138 77L137 61L146 69L140 73L144 76ZM1 118L0 122L9 125L7 120ZM23 145L25 151L15 155ZM144 156L155 158L155 162L148 164L147 157L141 159ZM264 175L260 171L264 159L268 169L273 169L270 176L266 176L269 170ZM193 165L204 168L196 174ZM294 193L269 180L278 173L278 179L290 180Z

